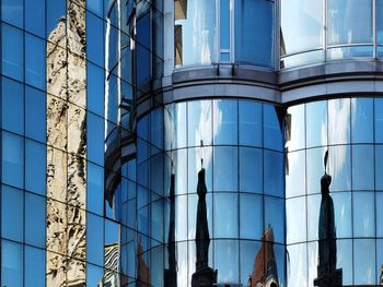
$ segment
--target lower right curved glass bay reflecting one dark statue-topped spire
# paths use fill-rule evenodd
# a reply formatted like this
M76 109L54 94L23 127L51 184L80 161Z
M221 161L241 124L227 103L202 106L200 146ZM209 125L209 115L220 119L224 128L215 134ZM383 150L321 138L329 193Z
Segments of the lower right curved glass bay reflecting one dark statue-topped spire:
M382 105L355 97L288 109L289 286L381 284Z

